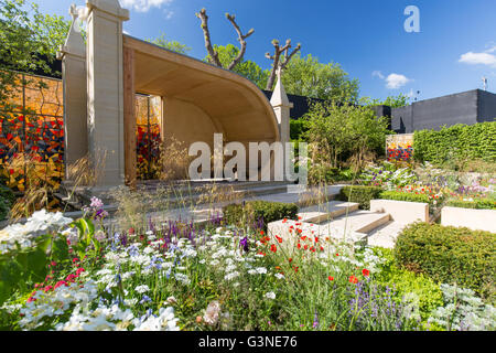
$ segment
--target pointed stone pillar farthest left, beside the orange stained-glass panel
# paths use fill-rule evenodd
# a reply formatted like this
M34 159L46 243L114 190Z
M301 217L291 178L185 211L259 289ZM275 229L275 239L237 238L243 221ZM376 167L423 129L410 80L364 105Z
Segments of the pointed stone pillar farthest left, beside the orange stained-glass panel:
M77 25L76 6L71 6L73 17L64 45L57 52L62 60L64 90L64 160L65 179L71 181L68 165L88 153L87 110L86 110L86 46Z

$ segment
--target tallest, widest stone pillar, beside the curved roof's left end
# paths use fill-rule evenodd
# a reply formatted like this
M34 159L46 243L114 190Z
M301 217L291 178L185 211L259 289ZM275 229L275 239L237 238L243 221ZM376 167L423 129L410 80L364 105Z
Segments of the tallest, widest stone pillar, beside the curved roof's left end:
M118 0L86 0L88 152L96 186L125 183L122 22Z

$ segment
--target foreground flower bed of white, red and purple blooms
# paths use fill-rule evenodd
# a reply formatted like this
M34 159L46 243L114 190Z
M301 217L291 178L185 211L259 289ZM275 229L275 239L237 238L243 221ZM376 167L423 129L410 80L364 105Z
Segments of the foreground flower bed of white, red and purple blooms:
M86 218L72 223L43 213L28 226L3 231L12 236L18 228L24 232L31 242L24 250L37 256L42 252L45 261L3 298L2 329L444 328L430 314L440 304L424 298L431 290L391 288L401 280L425 282L427 288L438 285L391 271L392 259L378 249L302 236L298 221L284 221L290 238L215 224L218 220L204 229L150 221L143 232L109 232L93 223L105 215L97 200L91 204ZM36 221L35 227L34 220L43 222ZM43 247L46 244L52 245ZM18 250L6 248L2 260ZM412 292L421 299L412 300Z

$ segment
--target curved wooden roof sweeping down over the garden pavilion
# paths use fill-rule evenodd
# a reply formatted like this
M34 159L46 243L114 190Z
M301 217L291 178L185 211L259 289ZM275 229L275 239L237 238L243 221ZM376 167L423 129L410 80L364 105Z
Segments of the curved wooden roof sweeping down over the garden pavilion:
M229 141L280 140L273 108L251 81L129 35L123 46L134 51L137 93L194 104L222 126Z

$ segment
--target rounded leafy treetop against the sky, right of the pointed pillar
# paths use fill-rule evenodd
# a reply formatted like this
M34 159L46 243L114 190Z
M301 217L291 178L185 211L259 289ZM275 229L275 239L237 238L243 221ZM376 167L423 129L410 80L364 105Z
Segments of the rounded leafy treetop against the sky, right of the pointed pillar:
M322 64L311 54L295 55L283 72L282 83L293 95L348 103L358 99L357 79L349 79L339 64Z

